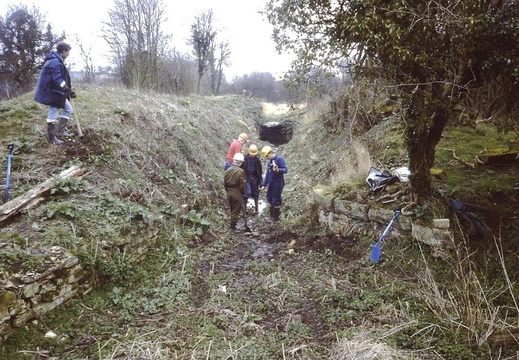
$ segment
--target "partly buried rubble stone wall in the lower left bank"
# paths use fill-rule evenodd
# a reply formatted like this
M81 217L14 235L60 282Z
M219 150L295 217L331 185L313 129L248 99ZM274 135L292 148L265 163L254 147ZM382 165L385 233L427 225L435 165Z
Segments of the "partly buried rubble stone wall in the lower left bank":
M141 229L140 236L124 243L103 241L98 255L104 261L123 256L139 263L148 249L156 244L157 230ZM59 246L32 249L45 254L46 263L40 270L20 269L0 284L0 345L5 339L31 321L75 297L84 296L95 286L95 274L86 271L73 256Z

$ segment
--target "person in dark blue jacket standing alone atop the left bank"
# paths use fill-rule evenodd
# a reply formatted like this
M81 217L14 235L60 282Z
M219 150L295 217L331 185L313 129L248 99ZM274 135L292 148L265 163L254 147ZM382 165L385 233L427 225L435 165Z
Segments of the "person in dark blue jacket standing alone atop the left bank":
M75 98L76 93L71 90L70 75L64 62L70 49L69 44L60 42L56 46L56 51L45 55L45 64L38 77L34 93L36 102L49 106L46 138L48 142L55 145L63 144L57 136L73 136L67 131L67 124L74 112L69 100ZM60 109L63 109L61 115Z

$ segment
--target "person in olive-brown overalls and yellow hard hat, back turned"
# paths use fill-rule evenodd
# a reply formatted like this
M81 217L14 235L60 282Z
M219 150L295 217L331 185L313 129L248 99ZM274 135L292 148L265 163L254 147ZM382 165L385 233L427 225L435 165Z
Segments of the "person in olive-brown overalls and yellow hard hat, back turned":
M243 209L243 194L247 181L245 171L242 169L243 161L244 157L241 152L235 154L231 167L225 170L223 176L223 186L227 191L227 201L231 209L230 230L236 230L236 224L238 224Z

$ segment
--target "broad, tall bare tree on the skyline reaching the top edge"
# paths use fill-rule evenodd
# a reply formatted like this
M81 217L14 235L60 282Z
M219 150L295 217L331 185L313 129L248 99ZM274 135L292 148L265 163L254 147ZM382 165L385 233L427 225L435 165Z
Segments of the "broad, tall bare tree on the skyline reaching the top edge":
M115 0L103 38L111 48L123 84L159 89L159 59L166 52L168 36L162 27L162 0Z

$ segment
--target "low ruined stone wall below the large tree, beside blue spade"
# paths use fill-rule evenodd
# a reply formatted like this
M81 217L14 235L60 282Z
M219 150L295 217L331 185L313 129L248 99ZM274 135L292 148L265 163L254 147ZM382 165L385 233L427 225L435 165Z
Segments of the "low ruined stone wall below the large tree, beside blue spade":
M382 208L378 204L370 205L337 199L328 188L323 186L313 189L313 200L318 209L319 222L326 224L336 234L380 236L393 217L392 209ZM449 229L445 228L446 223L445 221L417 222L410 216L400 215L391 231L400 236L411 236L415 240L430 245L436 256L442 256L452 243L452 235Z

